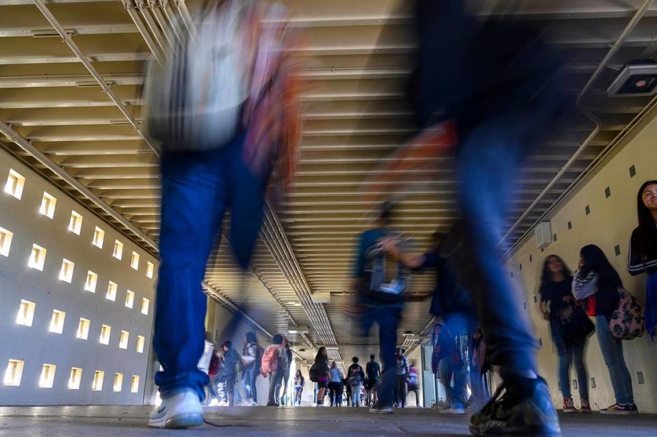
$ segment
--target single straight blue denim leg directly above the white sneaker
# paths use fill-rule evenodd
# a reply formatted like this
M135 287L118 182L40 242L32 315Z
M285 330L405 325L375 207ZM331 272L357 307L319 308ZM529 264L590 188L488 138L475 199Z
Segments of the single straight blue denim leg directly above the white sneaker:
M155 375L162 397L192 389L203 399L208 376L197 369L203 354L207 297L205 264L226 208L220 169L207 153L162 158L161 262L153 348L164 369Z

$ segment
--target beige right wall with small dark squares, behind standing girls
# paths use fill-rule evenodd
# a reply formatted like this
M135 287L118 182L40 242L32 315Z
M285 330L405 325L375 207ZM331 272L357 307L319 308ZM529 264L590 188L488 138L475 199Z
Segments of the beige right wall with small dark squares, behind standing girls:
M539 368L541 374L548 379L552 397L558 405L561 405L562 399L557 390L557 357L552 347L548 323L543 321L537 311L537 303L534 303L534 297L540 300L537 293L542 262L546 255L556 253L564 258L571 269L576 269L580 248L587 244L598 245L621 275L626 288L643 303L645 277L630 277L627 273L628 241L637 224L636 192L645 180L657 178L656 164L657 119L654 118L552 214L550 221L552 234L557 236L556 241L541 252L532 237L519 247L513 259L506 263L514 280L526 289L527 310L536 327L537 338L543 342L539 349ZM630 177L631 166L636 170L634 177ZM608 198L605 195L606 188L611 191ZM587 205L591 211L589 215L585 213ZM569 221L572 229L568 229ZM617 246L620 249L619 255L615 254ZM623 348L632 374L634 399L639 410L657 413L657 377L654 364L657 356L656 345L644 336L623 342ZM592 407L604 408L615 403L608 371L595 335L589 339L586 362ZM643 372L645 384L638 384L637 372ZM595 388L590 387L591 377L595 378ZM575 378L574 369L571 369L571 390L578 405L578 391L572 389L572 379Z

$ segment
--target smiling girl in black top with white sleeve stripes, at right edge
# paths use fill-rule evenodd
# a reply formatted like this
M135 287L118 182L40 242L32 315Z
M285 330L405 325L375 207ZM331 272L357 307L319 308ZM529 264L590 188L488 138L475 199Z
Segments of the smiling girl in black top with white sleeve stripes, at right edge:
M632 231L628 271L630 275L646 273L645 327L653 338L657 335L657 181L647 181L636 195L639 226Z

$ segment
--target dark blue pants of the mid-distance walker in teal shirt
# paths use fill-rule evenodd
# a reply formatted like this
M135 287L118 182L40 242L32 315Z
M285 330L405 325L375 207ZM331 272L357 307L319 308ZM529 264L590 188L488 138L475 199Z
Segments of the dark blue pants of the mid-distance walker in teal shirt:
M392 405L395 382L397 380L397 327L401 319L401 308L381 306L367 308L363 312L363 329L369 334L374 323L378 325L379 356L383 364L381 383L378 384L377 397L380 405Z

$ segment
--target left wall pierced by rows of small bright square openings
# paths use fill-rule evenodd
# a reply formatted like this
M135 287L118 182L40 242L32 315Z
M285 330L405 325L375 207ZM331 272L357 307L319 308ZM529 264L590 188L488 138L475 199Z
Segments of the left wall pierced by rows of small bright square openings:
M26 178L21 200L3 190L10 168ZM146 277L146 262L155 264L155 277L157 260L4 151L0 190L0 227L14 233L8 257L0 255L0 376L8 360L25 361L21 386L5 386L0 380L0 405L141 404L155 305L155 280ZM44 190L57 199L52 219L39 213ZM71 210L83 216L79 236L67 230ZM105 231L102 249L92 245L96 226ZM120 261L112 257L116 239L124 244ZM33 243L47 249L43 271L27 266ZM132 251L140 254L138 271L130 266ZM75 263L70 284L58 279L62 258ZM94 293L83 289L88 271L98 275ZM109 281L118 284L116 301L105 299ZM135 293L132 309L125 306L128 289ZM150 299L148 315L140 312L142 297ZM21 299L36 303L31 327L16 324ZM66 312L62 334L49 332L53 309ZM88 340L75 338L81 317L91 321ZM102 324L112 327L109 345L99 344ZM118 347L122 330L129 332L126 350ZM145 337L143 353L136 351L138 335ZM53 388L38 387L44 363L57 366ZM83 369L79 390L68 389L73 366ZM96 370L105 371L101 391L91 390ZM123 373L120 392L112 391L115 373ZM137 393L130 390L132 375L140 376Z

